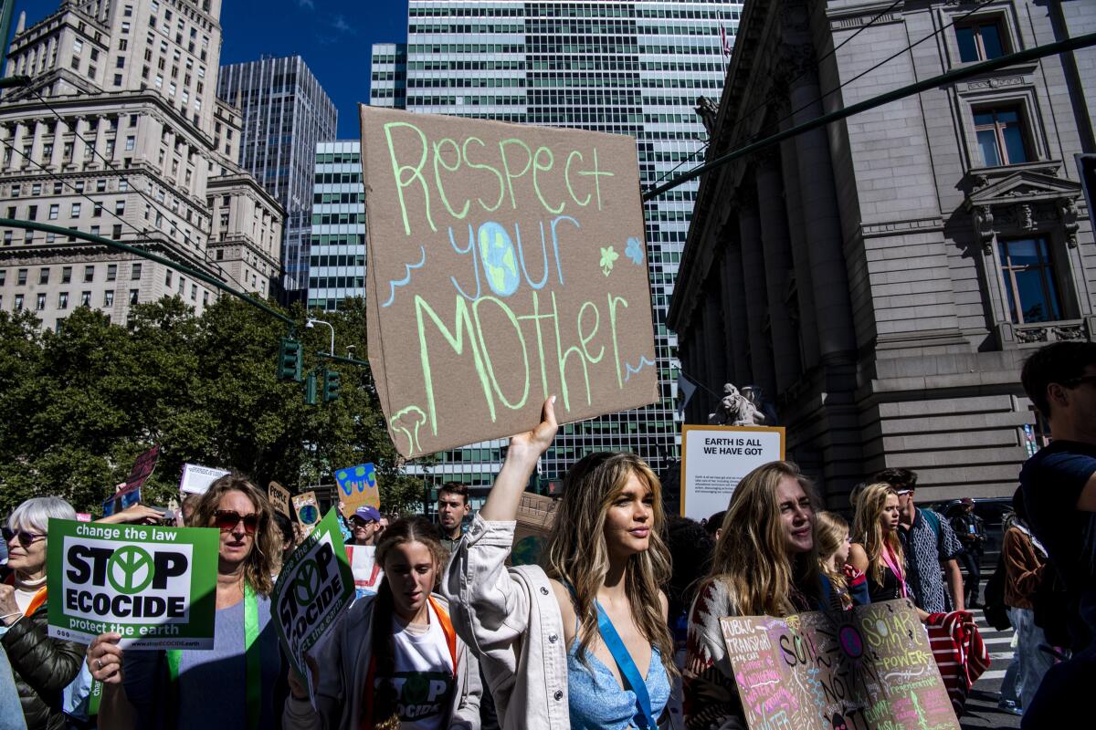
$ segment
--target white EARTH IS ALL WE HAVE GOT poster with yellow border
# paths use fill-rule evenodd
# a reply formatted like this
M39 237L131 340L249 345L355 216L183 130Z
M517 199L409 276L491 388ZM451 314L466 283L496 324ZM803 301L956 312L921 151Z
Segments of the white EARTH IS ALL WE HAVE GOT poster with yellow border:
M762 464L784 459L784 428L682 426L682 517L704 520L727 509Z

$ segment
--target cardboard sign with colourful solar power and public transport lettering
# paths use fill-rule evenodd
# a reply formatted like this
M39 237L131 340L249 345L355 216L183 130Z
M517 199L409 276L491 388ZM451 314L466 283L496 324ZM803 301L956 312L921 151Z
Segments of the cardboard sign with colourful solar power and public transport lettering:
M959 730L907 599L720 624L751 730Z

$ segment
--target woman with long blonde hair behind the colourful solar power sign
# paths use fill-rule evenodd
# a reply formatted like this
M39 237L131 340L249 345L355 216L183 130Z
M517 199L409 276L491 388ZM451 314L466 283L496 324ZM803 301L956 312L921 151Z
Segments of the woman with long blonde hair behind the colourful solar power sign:
M814 496L791 462L769 462L731 496L711 571L689 611L685 727L745 728L722 616L787 616L825 609L832 587L819 571Z

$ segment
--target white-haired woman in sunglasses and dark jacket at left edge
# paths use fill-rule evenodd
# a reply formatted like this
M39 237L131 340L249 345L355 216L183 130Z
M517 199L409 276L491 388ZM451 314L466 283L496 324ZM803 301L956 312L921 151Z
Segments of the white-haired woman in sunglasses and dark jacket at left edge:
M60 497L28 499L3 528L8 569L0 583L0 644L8 652L15 687L30 730L65 727L61 692L80 672L83 647L47 636L46 530L49 518L75 520L76 510Z

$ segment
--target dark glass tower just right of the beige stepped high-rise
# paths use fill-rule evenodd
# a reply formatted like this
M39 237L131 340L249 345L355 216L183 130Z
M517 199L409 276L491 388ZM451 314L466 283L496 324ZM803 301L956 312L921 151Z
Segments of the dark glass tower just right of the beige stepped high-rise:
M283 298L302 299L316 144L335 138L339 113L300 56L224 66L217 95L243 113L240 164L285 208Z

